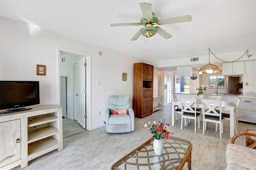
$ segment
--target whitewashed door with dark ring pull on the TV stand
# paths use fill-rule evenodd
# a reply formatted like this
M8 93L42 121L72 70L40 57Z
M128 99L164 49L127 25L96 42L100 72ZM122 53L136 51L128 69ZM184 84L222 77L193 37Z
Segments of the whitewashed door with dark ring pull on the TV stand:
M21 159L20 119L0 123L0 167Z

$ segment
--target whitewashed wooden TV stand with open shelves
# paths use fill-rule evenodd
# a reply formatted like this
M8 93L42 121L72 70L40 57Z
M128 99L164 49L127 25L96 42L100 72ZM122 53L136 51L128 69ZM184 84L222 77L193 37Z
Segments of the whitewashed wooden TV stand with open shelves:
M12 169L19 165L25 168L30 160L52 150L63 149L62 107L44 105L32 107L28 111L0 115L0 127L0 158L8 156L2 155L2 152L13 155L9 148L12 150L16 147L17 151L16 155L9 155L10 158L0 163L0 169ZM2 127L10 128L9 132L6 133ZM13 133L14 137L8 136ZM12 144L13 148L8 147L8 152L5 152L4 147L8 143Z

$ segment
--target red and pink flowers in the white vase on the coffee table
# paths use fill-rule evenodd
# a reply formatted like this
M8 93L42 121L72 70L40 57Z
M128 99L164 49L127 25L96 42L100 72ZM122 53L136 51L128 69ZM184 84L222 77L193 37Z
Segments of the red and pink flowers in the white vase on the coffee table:
M156 123L156 121L154 121L153 124L149 122L148 125L145 124L144 127L149 129L149 132L153 134L155 139L168 139L169 133L173 134L173 132L169 129L170 124L164 123L164 121L164 119L162 122L157 121Z

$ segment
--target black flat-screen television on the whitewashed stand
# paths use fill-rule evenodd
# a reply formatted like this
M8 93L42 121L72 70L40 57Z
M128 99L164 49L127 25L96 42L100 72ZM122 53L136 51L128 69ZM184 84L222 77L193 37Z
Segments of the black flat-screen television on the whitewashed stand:
M30 110L26 106L40 103L39 81L0 81L0 112L14 113Z

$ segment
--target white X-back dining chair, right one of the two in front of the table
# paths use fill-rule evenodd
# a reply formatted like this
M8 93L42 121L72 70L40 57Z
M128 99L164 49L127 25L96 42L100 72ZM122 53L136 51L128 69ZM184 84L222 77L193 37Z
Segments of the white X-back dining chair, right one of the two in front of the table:
M206 130L206 122L218 123L220 125L220 139L223 133L222 101L216 99L202 99L203 104L203 135ZM220 109L216 110L216 107ZM218 131L216 127L215 131Z

